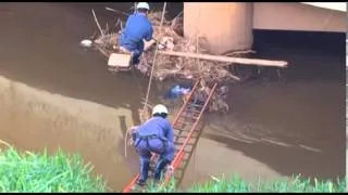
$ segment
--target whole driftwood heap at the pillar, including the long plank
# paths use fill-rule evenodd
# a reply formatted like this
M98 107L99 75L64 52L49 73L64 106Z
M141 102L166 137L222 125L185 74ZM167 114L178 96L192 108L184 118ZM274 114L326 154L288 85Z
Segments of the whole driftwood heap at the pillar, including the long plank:
M107 8L109 11L114 11L113 9ZM120 31L101 30L98 23L97 16L94 13L95 21L100 31L100 36L94 40L94 46L97 51L109 58L110 54L119 52L117 48L117 37ZM257 65L257 66L274 66L286 67L287 62L282 61L265 61L265 60L252 60L244 58L243 56L248 53L254 53L254 51L236 51L232 53L226 53L224 55L211 55L208 50L207 40L204 37L198 37L197 39L188 39L183 37L183 16L182 13L178 14L172 21L166 21L164 18L162 31L160 31L161 23L161 12L149 13L148 17L153 26L153 38L159 39L161 36L160 55L157 55L156 67L153 68L153 78L158 80L163 80L165 78L179 78L186 80L198 80L202 82L201 89L207 89L208 83L225 83L240 81L241 79L234 75L233 72L228 69L228 66L235 64L244 65ZM124 22L120 18L116 23L119 29L123 29ZM145 51L140 56L140 63L138 64L138 69L149 76L151 66L154 57L154 48ZM206 84L207 83L207 84ZM210 112L227 112L229 106L226 103L226 88L223 86L219 88L217 93L213 95L211 103L208 107ZM140 113L141 118L146 118L147 112Z

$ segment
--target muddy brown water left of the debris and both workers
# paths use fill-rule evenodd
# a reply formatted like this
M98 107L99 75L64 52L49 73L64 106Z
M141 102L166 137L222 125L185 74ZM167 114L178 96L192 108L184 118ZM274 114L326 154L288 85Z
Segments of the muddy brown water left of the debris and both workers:
M22 150L79 152L120 190L137 167L123 158L123 138L139 122L145 84L110 74L99 53L78 47L97 28L90 10L75 6L1 4L0 73L11 84L0 90L0 136Z

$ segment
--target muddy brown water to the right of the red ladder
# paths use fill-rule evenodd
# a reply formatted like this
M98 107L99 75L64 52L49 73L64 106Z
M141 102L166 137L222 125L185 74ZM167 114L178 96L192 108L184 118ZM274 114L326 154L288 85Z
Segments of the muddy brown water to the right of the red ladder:
M263 79L232 87L232 113L206 117L184 181L344 177L345 35L256 31L254 39L260 57L290 67L284 80L263 69Z

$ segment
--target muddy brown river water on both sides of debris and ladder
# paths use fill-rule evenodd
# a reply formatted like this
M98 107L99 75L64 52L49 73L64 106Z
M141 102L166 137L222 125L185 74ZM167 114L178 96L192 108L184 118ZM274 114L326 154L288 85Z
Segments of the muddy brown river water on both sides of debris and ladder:
M0 138L21 150L79 152L117 191L137 171L133 151L123 155L123 139L139 122L147 80L112 75L99 53L78 47L97 31L91 8L101 25L115 21L104 5L1 4ZM128 11L132 3L108 5ZM204 117L183 186L233 172L250 180L344 174L345 46L332 46L339 36L328 37L318 44L323 37L256 32L261 56L290 62L286 82L254 79L232 87L232 113ZM161 94L156 91L152 102Z

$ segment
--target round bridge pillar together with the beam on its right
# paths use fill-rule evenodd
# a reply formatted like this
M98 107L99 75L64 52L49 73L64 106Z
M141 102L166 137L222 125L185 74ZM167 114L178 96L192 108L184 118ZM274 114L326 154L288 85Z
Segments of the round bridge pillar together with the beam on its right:
M211 53L248 50L252 29L346 32L346 12L303 3L185 2L184 35Z

